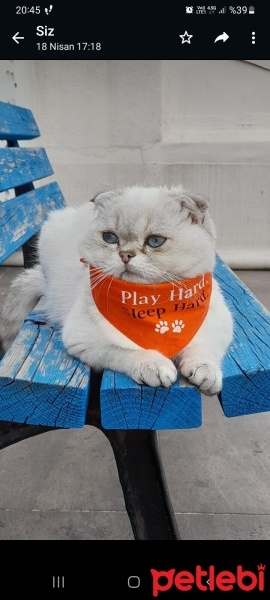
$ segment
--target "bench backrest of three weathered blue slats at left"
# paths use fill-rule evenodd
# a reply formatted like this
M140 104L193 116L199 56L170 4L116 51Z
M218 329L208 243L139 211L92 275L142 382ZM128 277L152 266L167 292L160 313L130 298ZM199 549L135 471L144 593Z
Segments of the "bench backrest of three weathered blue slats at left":
M64 206L57 183L35 189L33 182L47 178L53 169L43 148L20 147L19 141L40 136L32 112L0 102L0 264L35 235L48 212ZM6 194L8 195L8 194ZM9 194L10 195L10 194Z

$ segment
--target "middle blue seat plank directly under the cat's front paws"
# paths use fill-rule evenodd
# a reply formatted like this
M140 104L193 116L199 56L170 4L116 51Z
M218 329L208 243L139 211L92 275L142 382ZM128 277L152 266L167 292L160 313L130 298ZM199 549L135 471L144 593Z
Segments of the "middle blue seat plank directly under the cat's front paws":
M190 429L202 423L201 396L183 380L170 388L152 388L106 370L100 406L104 429Z

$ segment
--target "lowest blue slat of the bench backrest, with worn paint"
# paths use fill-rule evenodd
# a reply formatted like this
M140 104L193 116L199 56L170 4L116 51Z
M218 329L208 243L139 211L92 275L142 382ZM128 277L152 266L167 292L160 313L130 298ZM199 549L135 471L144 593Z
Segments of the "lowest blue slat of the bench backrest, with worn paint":
M39 231L51 210L64 205L57 183L0 203L0 264Z

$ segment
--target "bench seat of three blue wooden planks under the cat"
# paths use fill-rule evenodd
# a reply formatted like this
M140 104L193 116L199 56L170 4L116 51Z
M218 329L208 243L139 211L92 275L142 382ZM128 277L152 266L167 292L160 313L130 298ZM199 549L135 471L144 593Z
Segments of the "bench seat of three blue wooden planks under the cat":
M227 417L270 410L270 315L217 257L215 276L234 315L220 402ZM33 311L0 362L0 419L83 427L90 369L69 356L60 332ZM259 393L258 393L259 390ZM181 379L170 388L138 385L105 370L100 388L104 429L190 429L202 424L201 396Z

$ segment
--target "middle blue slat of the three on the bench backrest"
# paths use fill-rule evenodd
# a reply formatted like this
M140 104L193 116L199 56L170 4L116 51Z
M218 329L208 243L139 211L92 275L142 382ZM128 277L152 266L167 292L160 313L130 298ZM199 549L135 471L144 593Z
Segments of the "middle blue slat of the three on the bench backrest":
M0 148L0 192L52 174L44 148Z

